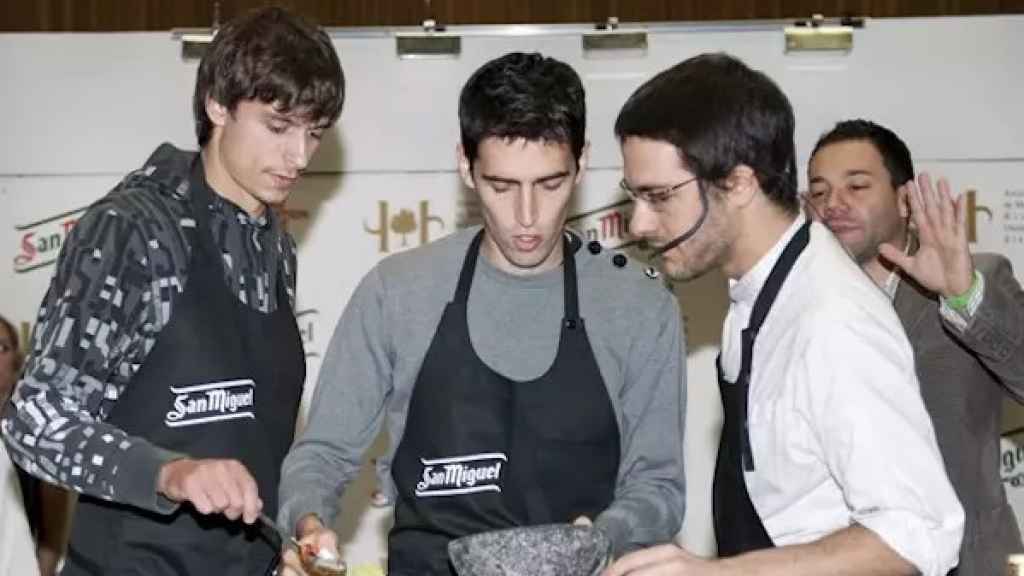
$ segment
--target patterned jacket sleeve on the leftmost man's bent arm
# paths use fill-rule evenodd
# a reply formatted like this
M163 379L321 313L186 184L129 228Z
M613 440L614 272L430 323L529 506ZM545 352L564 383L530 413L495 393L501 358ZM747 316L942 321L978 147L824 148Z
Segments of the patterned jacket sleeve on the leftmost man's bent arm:
M43 300L32 351L2 420L11 457L69 490L154 511L155 487L178 457L103 420L148 352L146 242L133 218L98 203L72 231ZM148 342L148 343L147 343Z

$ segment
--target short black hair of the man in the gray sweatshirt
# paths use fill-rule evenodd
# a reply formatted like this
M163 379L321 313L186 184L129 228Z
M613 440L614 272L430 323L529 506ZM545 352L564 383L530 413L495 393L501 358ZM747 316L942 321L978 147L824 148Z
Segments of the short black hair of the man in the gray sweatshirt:
M462 148L470 164L487 137L568 143L577 162L587 132L586 93L563 61L511 52L470 76L459 96Z

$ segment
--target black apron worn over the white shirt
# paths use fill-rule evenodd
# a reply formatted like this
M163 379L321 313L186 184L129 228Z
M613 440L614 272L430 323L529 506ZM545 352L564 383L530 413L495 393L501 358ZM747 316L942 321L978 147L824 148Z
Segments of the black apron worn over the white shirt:
M725 413L713 485L715 537L718 539L719 557L774 546L761 517L751 502L746 482L743 480L744 470L755 469L746 429L746 400L751 385L751 365L754 362L754 341L775 302L775 296L782 288L782 283L807 247L809 239L810 222L806 222L785 245L765 285L758 292L751 320L741 334L742 360L735 382L729 382L722 375L721 356L717 362L718 387L722 393L722 410Z

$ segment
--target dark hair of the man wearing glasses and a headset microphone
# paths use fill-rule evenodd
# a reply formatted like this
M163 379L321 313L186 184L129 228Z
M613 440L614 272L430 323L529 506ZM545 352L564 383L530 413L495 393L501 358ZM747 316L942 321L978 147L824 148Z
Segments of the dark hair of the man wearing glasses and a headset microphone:
M651 78L615 119L620 141L639 136L670 142L700 182L723 186L740 164L765 195L799 209L793 107L764 73L724 53L700 54Z

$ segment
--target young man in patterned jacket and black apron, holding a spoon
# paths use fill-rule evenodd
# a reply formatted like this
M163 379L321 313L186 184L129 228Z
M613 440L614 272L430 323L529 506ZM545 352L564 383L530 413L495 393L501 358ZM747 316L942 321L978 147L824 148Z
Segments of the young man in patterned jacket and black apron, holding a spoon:
M82 217L2 420L80 496L63 574L260 574L305 376L288 198L341 113L329 38L267 8L199 67L199 154L163 145Z

